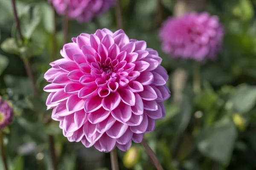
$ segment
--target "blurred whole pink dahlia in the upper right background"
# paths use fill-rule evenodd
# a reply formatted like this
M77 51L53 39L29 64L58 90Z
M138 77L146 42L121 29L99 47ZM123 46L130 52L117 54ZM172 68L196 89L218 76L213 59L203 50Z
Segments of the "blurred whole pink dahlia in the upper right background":
M215 59L221 48L224 28L217 16L207 12L167 19L160 29L162 49L172 57L205 61Z

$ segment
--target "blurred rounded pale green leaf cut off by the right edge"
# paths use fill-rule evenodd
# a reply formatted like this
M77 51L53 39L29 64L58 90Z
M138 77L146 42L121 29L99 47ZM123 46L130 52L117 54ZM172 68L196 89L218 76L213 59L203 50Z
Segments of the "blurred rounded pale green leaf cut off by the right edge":
M231 102L236 112L250 111L256 104L256 86L239 85L233 92Z

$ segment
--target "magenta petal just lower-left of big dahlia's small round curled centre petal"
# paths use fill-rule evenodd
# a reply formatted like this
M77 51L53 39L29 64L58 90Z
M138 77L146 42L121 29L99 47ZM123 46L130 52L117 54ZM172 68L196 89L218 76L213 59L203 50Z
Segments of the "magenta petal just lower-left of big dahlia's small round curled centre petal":
M99 96L92 96L86 99L84 103L84 110L87 113L94 112L102 107L102 98Z

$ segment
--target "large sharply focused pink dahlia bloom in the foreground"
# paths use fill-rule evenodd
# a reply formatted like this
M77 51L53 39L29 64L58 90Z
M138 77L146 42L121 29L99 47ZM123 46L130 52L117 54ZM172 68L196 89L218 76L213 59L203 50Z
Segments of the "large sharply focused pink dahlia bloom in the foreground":
M46 105L70 142L126 151L166 116L167 71L157 51L122 30L82 33L50 63Z

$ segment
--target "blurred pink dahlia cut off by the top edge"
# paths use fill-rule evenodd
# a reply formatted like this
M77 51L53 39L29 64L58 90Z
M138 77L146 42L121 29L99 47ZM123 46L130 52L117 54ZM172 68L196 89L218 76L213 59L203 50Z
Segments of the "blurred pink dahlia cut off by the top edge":
M48 0L56 12L67 15L70 19L87 22L115 5L115 0Z

